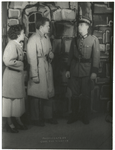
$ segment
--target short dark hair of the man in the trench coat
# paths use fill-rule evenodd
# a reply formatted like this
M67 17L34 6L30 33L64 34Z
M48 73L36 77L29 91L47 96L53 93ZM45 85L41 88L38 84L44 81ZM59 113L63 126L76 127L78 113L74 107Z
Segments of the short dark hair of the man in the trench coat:
M44 26L46 22L49 22L48 18L45 18L45 17L39 17L39 18L37 18L36 29L39 30L40 26Z

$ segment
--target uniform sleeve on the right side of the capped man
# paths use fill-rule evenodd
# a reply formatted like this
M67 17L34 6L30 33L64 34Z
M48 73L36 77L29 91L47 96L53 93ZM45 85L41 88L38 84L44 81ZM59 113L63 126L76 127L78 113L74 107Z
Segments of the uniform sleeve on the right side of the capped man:
M99 40L97 37L94 39L93 43L93 64L92 64L92 73L98 73L100 62L100 48L99 48Z

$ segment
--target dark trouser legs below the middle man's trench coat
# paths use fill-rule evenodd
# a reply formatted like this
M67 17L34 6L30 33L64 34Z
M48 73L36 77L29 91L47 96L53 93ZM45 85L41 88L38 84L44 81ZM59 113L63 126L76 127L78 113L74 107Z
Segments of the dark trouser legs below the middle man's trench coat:
M53 117L53 101L44 100L29 96L30 101L30 119L40 120L51 119Z

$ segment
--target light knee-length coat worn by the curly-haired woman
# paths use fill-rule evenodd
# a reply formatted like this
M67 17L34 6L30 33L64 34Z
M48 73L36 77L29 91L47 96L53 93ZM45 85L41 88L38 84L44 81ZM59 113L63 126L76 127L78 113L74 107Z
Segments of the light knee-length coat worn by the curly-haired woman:
M23 50L15 40L10 41L4 51L3 61L6 69L3 74L3 96L6 98L23 98L24 76L23 76Z

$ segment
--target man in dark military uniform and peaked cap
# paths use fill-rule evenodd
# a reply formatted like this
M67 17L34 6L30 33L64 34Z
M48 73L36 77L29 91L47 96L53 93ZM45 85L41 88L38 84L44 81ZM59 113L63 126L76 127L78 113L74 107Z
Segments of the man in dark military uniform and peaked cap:
M71 124L78 120L79 99L81 95L81 119L89 124L91 104L91 81L97 77L100 50L99 41L88 33L91 21L82 17L78 22L79 35L73 38L68 58L66 77L72 91L72 115L68 120Z

